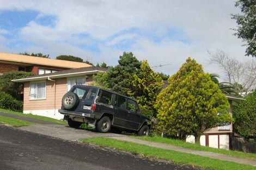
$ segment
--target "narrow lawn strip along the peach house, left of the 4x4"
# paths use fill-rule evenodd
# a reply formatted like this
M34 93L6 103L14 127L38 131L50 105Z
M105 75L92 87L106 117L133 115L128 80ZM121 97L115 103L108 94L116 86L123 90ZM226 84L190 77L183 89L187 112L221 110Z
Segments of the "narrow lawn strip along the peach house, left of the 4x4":
M19 116L24 116L24 117L31 117L31 118L39 119L42 121L53 122L53 123L58 123L58 124L65 124L65 125L68 124L64 121L59 121L57 119L50 118L50 117L32 115L32 114L23 114L21 112L11 111L11 110L7 110L7 109L0 109L0 112L5 112L8 114L14 114L14 115L19 115Z

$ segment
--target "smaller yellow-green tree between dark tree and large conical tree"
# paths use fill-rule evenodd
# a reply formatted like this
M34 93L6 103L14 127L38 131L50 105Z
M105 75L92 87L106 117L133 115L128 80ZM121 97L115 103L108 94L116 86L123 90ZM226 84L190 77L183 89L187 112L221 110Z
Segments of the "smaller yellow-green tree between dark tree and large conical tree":
M148 107L155 111L154 105L156 96L162 90L163 80L149 66L148 61L142 61L140 69L132 75L129 96L135 98L139 105ZM154 117L156 116L153 115Z

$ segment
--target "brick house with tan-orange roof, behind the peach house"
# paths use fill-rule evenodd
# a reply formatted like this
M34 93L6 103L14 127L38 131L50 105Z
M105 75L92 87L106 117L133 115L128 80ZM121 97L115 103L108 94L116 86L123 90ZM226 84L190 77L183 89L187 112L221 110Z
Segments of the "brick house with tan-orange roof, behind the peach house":
M38 56L0 53L0 74L27 71L35 74L54 73L71 68L90 67L83 62L47 59Z

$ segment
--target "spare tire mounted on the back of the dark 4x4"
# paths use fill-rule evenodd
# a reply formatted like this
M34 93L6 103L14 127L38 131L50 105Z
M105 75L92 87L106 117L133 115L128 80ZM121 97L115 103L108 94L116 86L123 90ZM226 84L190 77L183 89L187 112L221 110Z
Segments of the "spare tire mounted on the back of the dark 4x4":
M63 108L66 110L75 109L79 103L79 98L76 93L68 92L62 98Z

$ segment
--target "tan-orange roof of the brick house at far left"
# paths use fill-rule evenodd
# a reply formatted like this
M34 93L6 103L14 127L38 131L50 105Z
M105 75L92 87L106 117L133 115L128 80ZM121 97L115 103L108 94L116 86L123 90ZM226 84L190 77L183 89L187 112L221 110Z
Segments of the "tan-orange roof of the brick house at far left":
M20 54L8 54L0 53L0 62L19 64L23 66L29 65L43 65L43 66L53 66L62 68L80 68L80 67L90 67L91 65L84 62L57 60L57 59L47 59L38 56L20 55Z

